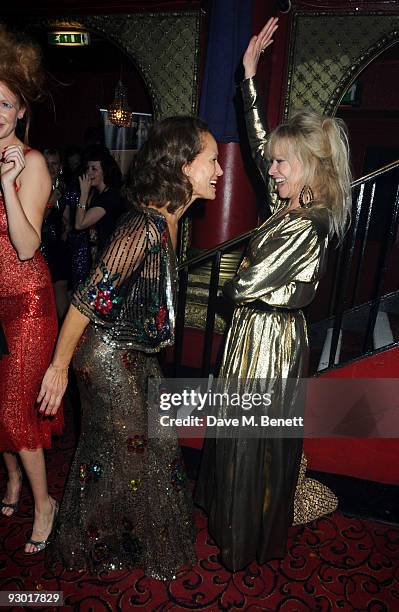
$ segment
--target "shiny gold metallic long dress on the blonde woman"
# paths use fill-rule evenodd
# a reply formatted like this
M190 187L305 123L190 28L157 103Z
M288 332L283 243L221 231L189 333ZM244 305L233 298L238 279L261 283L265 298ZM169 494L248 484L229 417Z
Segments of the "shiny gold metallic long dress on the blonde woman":
M242 89L252 152L267 181L267 133L254 80L244 81ZM289 418L307 372L308 339L300 309L313 300L324 272L328 230L325 219L310 210L286 213L285 202L275 194L270 200L272 216L255 231L237 275L224 286L237 307L219 379L245 381L247 392L257 392L259 381L273 381L273 416ZM276 310L254 308L255 300ZM229 410L220 408L218 416L228 416ZM332 492L305 478L301 438L211 435L195 501L207 511L209 531L230 570L255 559L284 557L292 524L336 509Z

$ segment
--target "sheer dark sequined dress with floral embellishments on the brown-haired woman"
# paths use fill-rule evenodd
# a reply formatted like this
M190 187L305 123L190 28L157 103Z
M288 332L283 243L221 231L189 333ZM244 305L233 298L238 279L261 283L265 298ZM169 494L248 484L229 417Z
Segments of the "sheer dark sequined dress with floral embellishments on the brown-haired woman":
M122 218L73 304L90 319L73 367L81 433L47 563L172 578L195 562L192 499L177 438L148 437L154 355L173 343L176 264L165 218Z

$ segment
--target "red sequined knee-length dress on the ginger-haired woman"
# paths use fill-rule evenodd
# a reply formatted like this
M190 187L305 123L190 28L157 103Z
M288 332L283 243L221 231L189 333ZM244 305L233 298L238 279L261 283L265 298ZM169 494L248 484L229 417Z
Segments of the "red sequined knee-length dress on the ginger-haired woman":
M0 359L0 451L50 448L52 434L62 431L62 409L43 417L36 398L57 336L53 289L39 251L28 261L18 258L1 191L0 321L9 349Z

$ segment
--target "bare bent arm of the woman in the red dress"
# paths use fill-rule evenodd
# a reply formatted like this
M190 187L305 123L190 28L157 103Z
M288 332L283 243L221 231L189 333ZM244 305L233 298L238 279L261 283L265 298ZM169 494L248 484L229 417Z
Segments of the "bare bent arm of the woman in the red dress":
M46 162L39 151L24 154L21 145L12 145L5 149L0 169L11 244L19 259L32 259L51 191Z

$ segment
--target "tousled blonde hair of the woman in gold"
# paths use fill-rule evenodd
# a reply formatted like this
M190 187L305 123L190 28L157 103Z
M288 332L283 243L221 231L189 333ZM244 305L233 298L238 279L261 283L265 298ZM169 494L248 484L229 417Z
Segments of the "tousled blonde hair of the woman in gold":
M270 135L267 155L272 158L276 141L288 144L303 169L303 185L315 196L311 214L327 212L329 234L342 241L350 222L351 171L349 145L342 119L326 117L310 110L296 111Z

